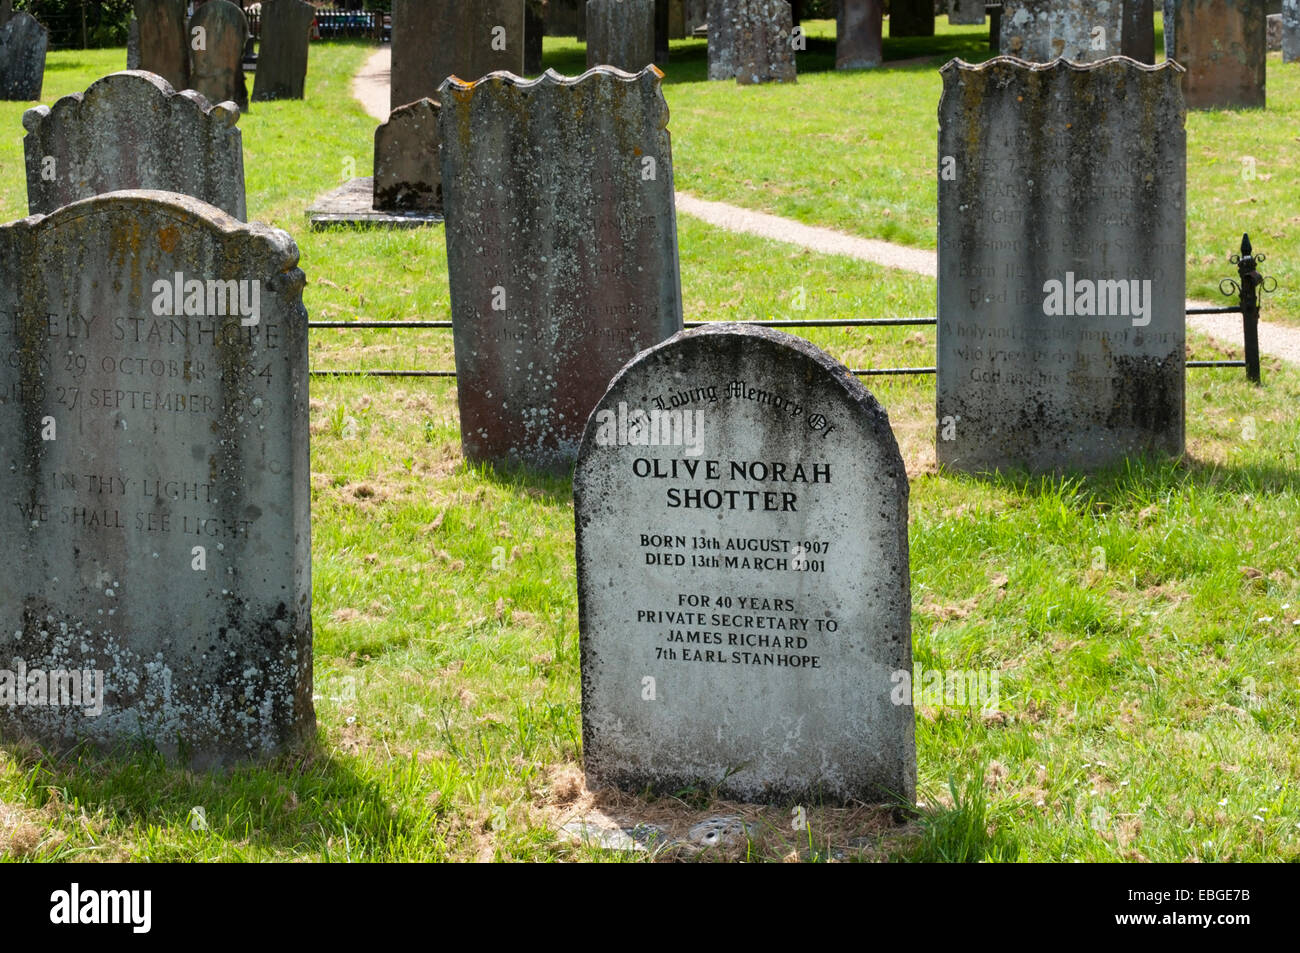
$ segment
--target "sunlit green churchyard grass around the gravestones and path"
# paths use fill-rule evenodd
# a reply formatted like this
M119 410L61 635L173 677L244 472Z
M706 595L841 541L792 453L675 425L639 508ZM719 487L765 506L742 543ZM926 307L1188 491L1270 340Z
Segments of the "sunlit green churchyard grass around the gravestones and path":
M692 43L677 47L681 70L698 78ZM575 49L549 43L549 60L576 72ZM308 99L257 105L242 120L250 211L299 241L313 317L445 319L441 229L304 228L303 209L338 183L348 156L365 172L374 124L348 83L367 53L313 48ZM52 56L47 101L122 60L121 51ZM690 82L676 65L670 79L679 185L872 235L867 222L883 216L862 216L859 203L879 190L892 203L880 208L894 209L887 218L915 229L881 237L932 246L932 73L809 70L802 96ZM1284 101L1284 88L1278 95ZM786 96L800 108L783 107ZM5 220L25 213L22 109L0 104L10 130L0 137ZM850 114L862 118L850 126ZM1208 118L1226 124L1225 156L1273 135L1257 116ZM772 138L846 127L861 131L841 142ZM1257 151L1261 170L1262 156L1290 155ZM909 155L916 174L889 189L866 174ZM767 178L779 163L789 165ZM788 194L746 179L781 181ZM1236 186L1210 177L1201 189L1231 196ZM1284 260L1265 235L1258 244ZM685 217L679 237L689 319L933 309L928 278ZM933 360L928 329L809 337L857 367ZM1221 355L1193 341L1193 358ZM445 332L320 332L311 359L318 369L450 367L451 345ZM1256 389L1240 372L1191 372L1184 459L1057 480L939 473L933 381L870 380L913 478L915 658L997 671L1000 711L916 710L922 803L901 824L888 811L807 805L796 831L790 806L719 803L707 785L601 807L680 824L744 814L748 841L706 859L1300 859L1300 374L1270 360L1265 380ZM592 809L575 784L568 481L465 467L448 382L317 378L311 425L317 746L225 776L148 753L53 758L5 745L0 859L625 859L559 832Z

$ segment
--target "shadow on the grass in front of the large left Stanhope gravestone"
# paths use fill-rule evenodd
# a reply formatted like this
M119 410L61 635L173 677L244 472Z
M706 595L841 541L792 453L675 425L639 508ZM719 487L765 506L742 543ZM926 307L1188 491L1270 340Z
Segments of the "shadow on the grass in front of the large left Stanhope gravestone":
M377 780L324 754L318 745L228 772L190 771L152 746L108 754L78 746L53 754L20 742L0 750L23 775L26 806L53 809L51 829L69 819L82 831L92 829L87 823L94 826L98 818L116 822L116 829L88 839L47 840L49 846L27 859L95 859L100 850L95 841L103 840L135 841L139 853L133 859L150 861L264 859L250 848L317 861L437 853L436 811L415 816L391 805ZM142 828L157 844L140 845Z

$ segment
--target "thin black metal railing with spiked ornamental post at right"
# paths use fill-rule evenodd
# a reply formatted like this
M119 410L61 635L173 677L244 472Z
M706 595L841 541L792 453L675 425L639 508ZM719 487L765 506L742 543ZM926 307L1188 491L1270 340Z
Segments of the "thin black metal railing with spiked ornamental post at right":
M1258 293L1271 293L1278 282L1271 276L1261 276L1257 265L1264 255L1253 255L1251 237L1242 235L1242 252L1228 259L1238 268L1238 280L1223 278L1219 291L1238 295L1238 304L1228 307L1187 308L1187 315L1242 315L1245 338L1244 360L1190 360L1188 368L1245 368L1247 380L1260 384L1260 298ZM1271 285L1270 285L1271 282ZM714 321L685 321L685 328L703 328ZM937 317L844 317L775 321L731 321L760 328L924 328L936 326ZM451 321L308 321L311 330L450 330ZM933 367L918 368L855 368L858 377L905 377L909 374L935 374ZM312 371L312 377L455 377L455 371Z

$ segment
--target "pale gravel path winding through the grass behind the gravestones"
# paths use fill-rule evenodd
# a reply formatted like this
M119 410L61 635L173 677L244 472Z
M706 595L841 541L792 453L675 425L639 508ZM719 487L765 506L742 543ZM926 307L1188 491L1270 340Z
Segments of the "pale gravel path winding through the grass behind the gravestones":
M365 112L380 122L389 118L391 64L391 49L384 47L365 61L361 72L352 79L352 95L361 103ZM737 208L723 202L697 199L685 192L677 192L677 211L728 231L758 235L775 242L788 242L824 255L844 255L887 268L915 272L931 278L937 273L937 256L932 251L907 248L874 238L857 238L842 231L803 225L766 212ZM1217 302L1221 306L1223 303ZM1188 302L1188 304L1204 306L1206 303ZM1268 307L1268 302L1265 302L1265 307ZM1192 315L1187 319L1187 325L1225 345L1243 347L1242 320L1236 315ZM1300 330L1261 321L1260 351L1292 364L1300 364Z

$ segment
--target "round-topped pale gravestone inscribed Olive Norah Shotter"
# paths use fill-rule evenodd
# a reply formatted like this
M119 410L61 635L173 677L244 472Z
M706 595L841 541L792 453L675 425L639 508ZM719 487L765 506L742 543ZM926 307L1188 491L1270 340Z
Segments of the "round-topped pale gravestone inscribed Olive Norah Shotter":
M597 404L573 516L589 787L914 798L907 475L848 369L675 335Z

